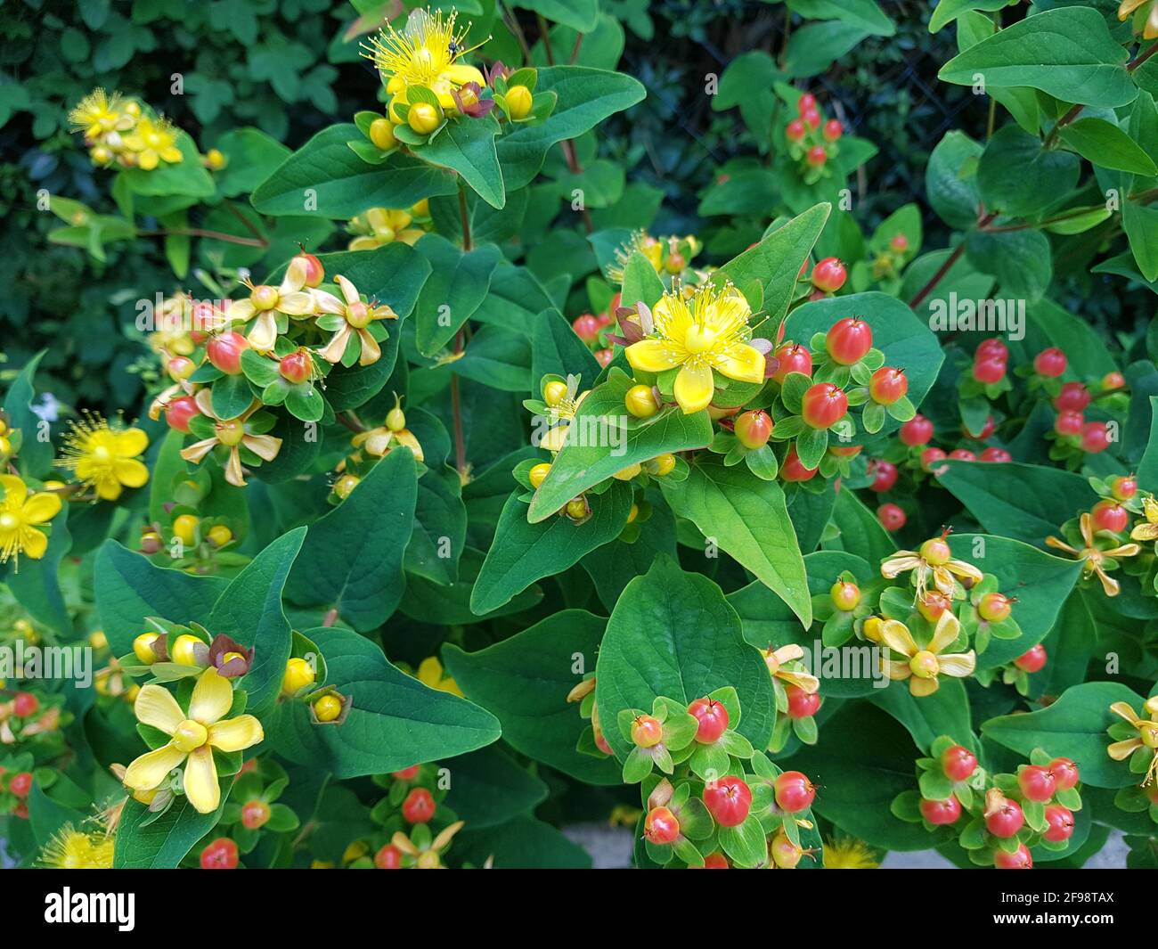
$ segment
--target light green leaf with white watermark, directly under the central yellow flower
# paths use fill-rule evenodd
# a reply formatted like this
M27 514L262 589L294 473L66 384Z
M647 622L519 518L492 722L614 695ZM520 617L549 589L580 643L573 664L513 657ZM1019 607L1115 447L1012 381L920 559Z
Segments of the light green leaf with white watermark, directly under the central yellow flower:
M684 415L670 408L651 418L628 415L623 400L633 385L630 375L613 368L607 381L579 404L571 422L577 437L567 438L530 502L527 517L533 524L630 465L711 444L712 423L706 411Z

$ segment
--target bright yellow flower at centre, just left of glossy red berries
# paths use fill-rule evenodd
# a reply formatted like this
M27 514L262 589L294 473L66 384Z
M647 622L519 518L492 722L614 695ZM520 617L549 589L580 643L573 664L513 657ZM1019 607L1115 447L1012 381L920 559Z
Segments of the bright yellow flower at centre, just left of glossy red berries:
M764 381L764 355L748 344L748 301L731 284L701 284L690 299L679 289L652 309L654 334L626 349L642 372L679 368L673 387L684 414L706 409L716 389L712 371L740 382Z

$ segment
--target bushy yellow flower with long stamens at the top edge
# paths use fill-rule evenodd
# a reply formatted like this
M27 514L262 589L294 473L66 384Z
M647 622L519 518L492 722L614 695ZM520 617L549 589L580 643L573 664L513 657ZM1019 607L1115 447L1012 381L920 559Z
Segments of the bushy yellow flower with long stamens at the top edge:
M364 46L362 56L378 67L390 95L404 96L408 86L425 86L444 109L454 109L452 89L468 82L486 83L478 70L457 61L471 50L466 48L469 28L455 30L456 16L452 13L444 20L441 10L416 9L401 31L387 24Z

